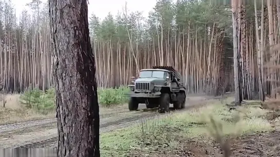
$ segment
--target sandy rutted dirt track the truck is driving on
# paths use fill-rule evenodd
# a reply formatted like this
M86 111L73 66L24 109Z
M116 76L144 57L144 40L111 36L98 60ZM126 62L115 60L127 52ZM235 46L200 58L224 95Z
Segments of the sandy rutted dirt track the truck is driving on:
M211 99L213 97L189 97L186 101L186 108L176 111L176 113L193 108ZM126 105L114 109L101 108L101 133L128 127L141 122L143 119L161 118L170 115L159 115L151 109L143 111L145 108L145 105L140 105L138 111L129 111ZM57 120L55 118L0 125L0 148L54 148L57 145L57 131Z

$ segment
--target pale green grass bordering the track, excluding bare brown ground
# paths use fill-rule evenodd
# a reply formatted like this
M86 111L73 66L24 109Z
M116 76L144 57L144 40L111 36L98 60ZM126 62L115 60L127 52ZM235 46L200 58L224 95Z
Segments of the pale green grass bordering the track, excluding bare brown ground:
M226 101L231 101L227 99ZM172 114L163 119L153 119L125 129L101 134L102 156L132 156L131 152L159 152L178 149L182 139L211 140L215 134L239 136L272 129L264 119L267 110L246 105L229 111L219 102L206 107ZM211 118L220 127L213 127ZM214 134L213 134L214 133ZM130 154L130 155L129 155Z

